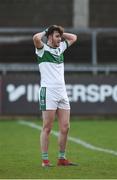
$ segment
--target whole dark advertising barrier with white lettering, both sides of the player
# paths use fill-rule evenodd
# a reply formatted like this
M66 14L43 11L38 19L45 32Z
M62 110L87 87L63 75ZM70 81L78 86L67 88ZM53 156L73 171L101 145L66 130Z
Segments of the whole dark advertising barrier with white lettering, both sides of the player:
M66 88L74 115L117 114L116 76L66 75ZM38 115L39 75L9 75L3 78L3 113Z

